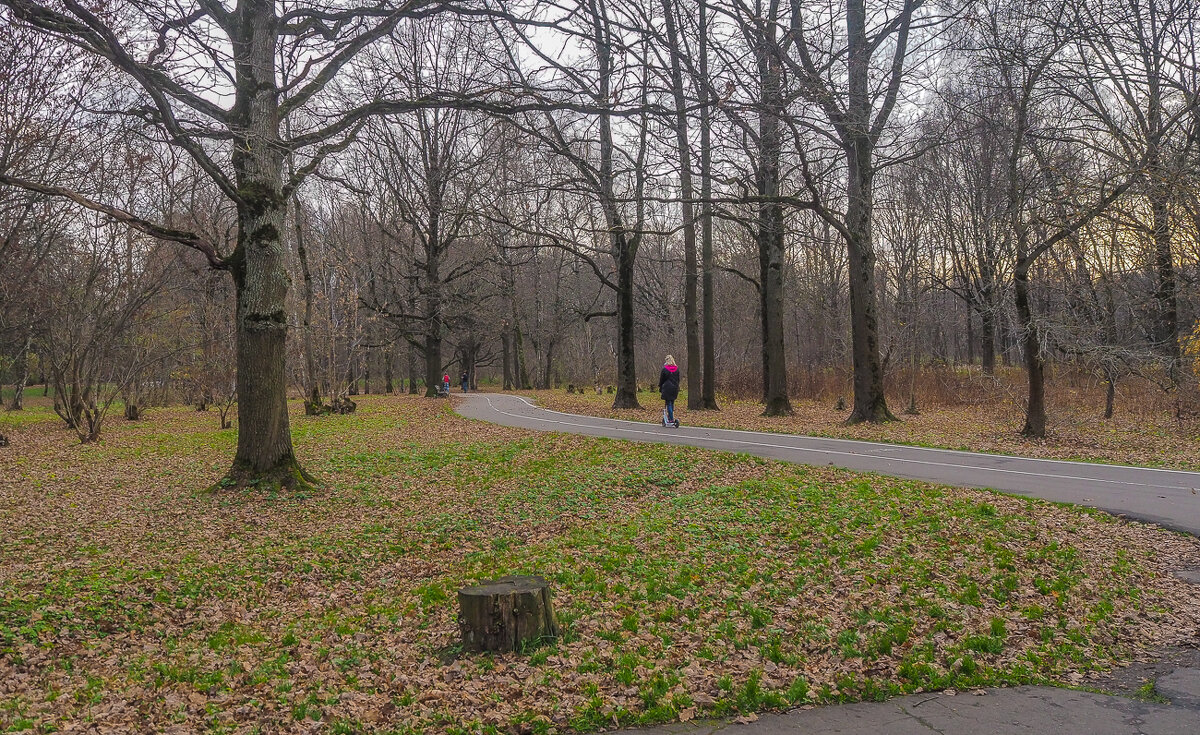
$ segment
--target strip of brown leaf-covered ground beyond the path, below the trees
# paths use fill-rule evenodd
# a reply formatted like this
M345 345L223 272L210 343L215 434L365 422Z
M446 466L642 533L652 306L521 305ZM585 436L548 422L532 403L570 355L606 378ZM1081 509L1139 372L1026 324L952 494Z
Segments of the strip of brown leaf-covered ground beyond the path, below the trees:
M662 412L656 392L638 394L641 410L622 411L612 408L612 396L607 394L568 394L564 390L526 390L522 394L546 408L587 416L656 423ZM917 416L901 413L902 405L892 406L900 420L851 426L845 424L850 411L836 411L833 401L793 400L793 416L764 417L762 404L728 399L719 401L721 411L688 411L684 393L676 411L680 422L695 426L1200 470L1200 423L1180 423L1166 411L1121 411L1105 419L1102 411L1080 408L1082 402L1070 398L1069 392L1064 393L1049 407L1049 431L1044 440L1020 436L1024 408L1012 400L922 407Z

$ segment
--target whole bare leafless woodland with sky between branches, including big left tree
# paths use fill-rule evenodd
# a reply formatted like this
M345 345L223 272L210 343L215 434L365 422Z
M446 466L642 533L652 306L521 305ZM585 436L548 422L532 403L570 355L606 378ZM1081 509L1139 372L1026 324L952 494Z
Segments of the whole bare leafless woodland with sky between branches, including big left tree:
M287 396L690 408L1015 364L1194 392L1194 0L0 0L2 380L83 441ZM1194 335L1195 333L1195 335ZM1182 399L1181 399L1182 400ZM1014 430L1018 428L1014 428Z

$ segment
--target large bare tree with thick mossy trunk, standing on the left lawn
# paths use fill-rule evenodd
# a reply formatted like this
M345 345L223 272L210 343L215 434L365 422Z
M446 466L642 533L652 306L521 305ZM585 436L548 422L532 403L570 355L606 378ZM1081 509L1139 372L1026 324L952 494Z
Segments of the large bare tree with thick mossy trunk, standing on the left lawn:
M281 8L271 0L239 0L233 10L214 0L126 1L98 10L77 0L4 5L12 19L106 59L140 90L143 103L132 114L191 156L235 204L236 241L223 251L193 232L155 222L154 213L126 211L64 186L7 173L0 184L70 198L198 250L212 268L227 270L238 301L241 423L229 480L258 486L310 482L293 453L287 410L289 279L282 238L288 201L326 156L348 145L367 116L430 106L391 98L386 89L362 90L347 104L338 86L347 83L342 72L354 68L364 49L386 38L402 20L445 6L322 2ZM284 86L281 66L293 70ZM230 100L228 106L217 102L222 95ZM284 136L289 120L292 135ZM287 157L301 154L305 160L284 175Z

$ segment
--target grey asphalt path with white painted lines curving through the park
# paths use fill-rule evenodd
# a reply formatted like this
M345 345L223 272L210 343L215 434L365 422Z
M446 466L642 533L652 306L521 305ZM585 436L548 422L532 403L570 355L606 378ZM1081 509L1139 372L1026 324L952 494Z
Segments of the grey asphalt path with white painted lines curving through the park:
M732 429L679 429L550 411L518 395L455 396L462 416L505 426L685 444L757 456L878 472L947 485L991 488L1098 508L1200 536L1200 472L926 449L878 442Z

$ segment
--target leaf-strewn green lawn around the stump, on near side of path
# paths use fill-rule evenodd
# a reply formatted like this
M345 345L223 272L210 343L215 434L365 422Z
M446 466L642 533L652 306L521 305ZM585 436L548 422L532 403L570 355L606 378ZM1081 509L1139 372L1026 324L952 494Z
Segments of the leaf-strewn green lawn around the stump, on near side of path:
M216 417L80 446L2 417L0 731L550 733L1086 686L1196 640L1200 542L1109 515L365 396L293 412L326 482L206 491ZM34 418L29 418L34 417ZM564 634L457 647L455 590L551 580Z

